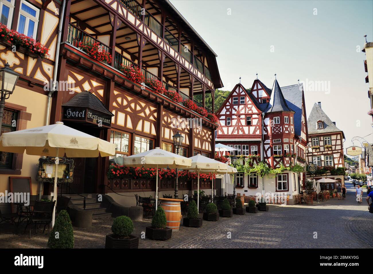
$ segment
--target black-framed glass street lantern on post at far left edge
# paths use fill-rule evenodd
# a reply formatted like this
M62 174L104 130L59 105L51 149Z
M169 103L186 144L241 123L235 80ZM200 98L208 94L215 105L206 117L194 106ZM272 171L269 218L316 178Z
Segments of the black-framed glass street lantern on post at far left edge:
M13 93L16 87L19 74L14 70L9 68L9 64L6 63L5 66L0 69L0 135L1 135L1 125L3 123L3 114L5 107L5 100L9 98L10 94Z

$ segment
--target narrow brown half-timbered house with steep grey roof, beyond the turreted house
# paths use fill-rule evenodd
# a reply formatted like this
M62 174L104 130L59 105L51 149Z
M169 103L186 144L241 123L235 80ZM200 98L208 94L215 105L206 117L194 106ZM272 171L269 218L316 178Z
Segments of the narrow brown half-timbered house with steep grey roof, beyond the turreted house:
M308 173L307 178L317 180L327 177L337 180L336 183L322 186L323 189L334 190L338 184L344 183L344 170L339 169L341 171L337 172L337 169L345 166L343 151L345 135L322 110L321 102L313 105L310 116L308 116L307 126L308 151L306 160L308 163L315 164L319 170L323 169L326 172L322 176Z

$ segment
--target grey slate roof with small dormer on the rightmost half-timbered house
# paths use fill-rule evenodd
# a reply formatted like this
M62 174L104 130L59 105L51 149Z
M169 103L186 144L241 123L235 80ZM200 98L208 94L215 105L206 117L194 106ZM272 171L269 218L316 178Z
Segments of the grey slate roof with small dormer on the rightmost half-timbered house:
M323 122L323 128L317 129L317 121ZM325 114L319 104L315 103L307 120L308 134L330 133L341 131L343 138L345 135L342 130L334 125L332 120Z

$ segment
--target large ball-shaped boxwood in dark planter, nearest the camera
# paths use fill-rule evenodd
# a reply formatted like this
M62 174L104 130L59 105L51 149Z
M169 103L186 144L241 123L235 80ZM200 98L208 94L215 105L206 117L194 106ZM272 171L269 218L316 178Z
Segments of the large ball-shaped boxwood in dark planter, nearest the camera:
M105 248L138 248L139 238L131 235L134 224L127 216L116 217L113 221L113 234L106 235Z

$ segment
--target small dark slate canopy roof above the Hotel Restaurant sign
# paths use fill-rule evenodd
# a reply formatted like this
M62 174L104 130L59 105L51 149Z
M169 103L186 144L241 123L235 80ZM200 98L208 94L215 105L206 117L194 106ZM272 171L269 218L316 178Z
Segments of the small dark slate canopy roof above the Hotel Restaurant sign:
M91 110L98 111L100 113L114 116L104 104L94 94L89 91L82 91L74 95L67 103L63 104L65 107L83 107L90 108Z

